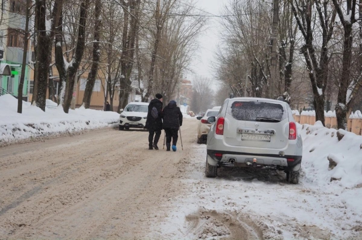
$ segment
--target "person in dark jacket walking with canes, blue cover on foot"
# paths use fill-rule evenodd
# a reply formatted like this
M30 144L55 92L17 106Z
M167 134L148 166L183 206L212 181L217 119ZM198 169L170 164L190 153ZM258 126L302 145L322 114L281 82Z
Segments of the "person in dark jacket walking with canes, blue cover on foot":
M178 129L182 126L182 113L174 100L171 100L163 109L162 128L166 133L166 151L170 151L171 138L172 150L176 151L176 143L178 139Z

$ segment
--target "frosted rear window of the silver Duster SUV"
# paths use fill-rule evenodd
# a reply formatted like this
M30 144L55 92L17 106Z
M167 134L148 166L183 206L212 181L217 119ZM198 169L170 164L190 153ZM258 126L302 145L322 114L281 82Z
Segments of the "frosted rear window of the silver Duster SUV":
M260 101L235 101L228 107L227 113L234 119L243 121L256 121L257 118L283 120L287 117L281 104Z

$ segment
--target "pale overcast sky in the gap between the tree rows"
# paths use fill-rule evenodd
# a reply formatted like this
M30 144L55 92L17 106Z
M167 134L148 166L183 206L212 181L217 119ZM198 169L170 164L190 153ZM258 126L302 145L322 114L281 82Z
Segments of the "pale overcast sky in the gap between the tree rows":
M196 7L211 14L220 15L220 10L223 9L226 3L227 0L197 0ZM202 14L210 15L205 12L202 12ZM203 32L199 38L200 47L196 53L198 57L195 57L191 63L191 69L193 69L195 74L208 77L210 80L214 79L211 62L214 59L214 52L219 43L219 21L220 18L218 17L208 17L208 29ZM193 80L194 74L187 74L186 78ZM213 88L215 88L215 86Z

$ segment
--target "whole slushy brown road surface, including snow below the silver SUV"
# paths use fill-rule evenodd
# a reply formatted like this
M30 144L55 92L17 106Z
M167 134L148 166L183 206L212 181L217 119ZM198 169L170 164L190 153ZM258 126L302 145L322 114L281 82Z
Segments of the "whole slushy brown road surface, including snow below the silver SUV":
M361 191L272 170L205 178L197 123L176 153L110 128L0 148L0 239L361 239Z

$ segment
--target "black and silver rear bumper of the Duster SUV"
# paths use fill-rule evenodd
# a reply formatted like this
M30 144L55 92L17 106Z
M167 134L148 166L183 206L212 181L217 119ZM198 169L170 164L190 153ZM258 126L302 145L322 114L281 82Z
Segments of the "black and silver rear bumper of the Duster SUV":
M216 157L215 153L222 154L222 156ZM254 162L254 159L256 159L256 162ZM293 160L291 161L291 159ZM274 166L274 167L284 168L285 170L289 170L298 165L300 162L302 162L302 156L252 154L252 153L217 151L217 150L208 149L207 162L209 162L209 164L212 166L232 165L240 167L252 166L252 164L255 163L258 166Z

